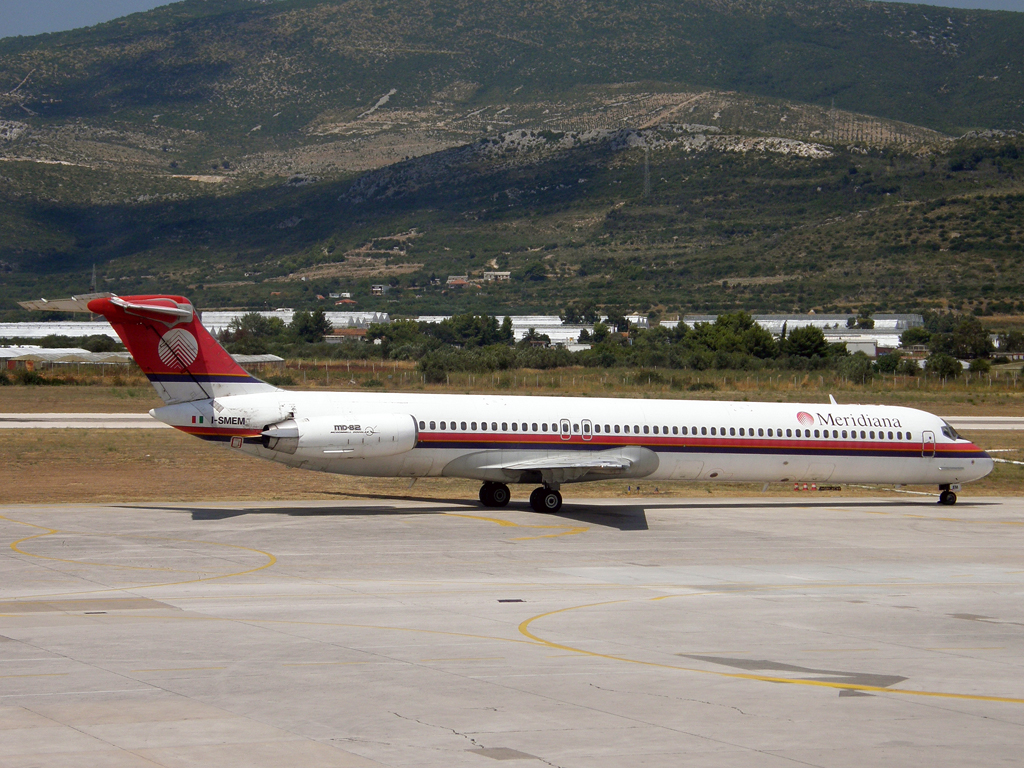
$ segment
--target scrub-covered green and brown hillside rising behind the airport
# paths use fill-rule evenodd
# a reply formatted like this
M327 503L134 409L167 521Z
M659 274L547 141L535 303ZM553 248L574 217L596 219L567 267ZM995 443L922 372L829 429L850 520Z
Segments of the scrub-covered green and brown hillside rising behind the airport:
M3 40L0 306L95 264L207 306L1024 310L1022 33L850 0L186 0Z

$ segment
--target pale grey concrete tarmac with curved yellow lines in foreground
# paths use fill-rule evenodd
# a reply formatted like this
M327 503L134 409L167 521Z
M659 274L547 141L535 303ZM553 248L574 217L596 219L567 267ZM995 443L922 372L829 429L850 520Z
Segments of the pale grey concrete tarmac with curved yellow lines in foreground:
M0 767L1020 763L1020 499L566 490L2 507Z

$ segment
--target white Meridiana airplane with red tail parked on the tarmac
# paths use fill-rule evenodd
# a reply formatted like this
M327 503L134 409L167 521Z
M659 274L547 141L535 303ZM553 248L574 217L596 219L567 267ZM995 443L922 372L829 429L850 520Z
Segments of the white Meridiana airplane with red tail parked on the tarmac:
M534 510L554 513L562 485L608 479L936 484L951 505L961 483L993 467L915 409L830 395L818 404L296 392L243 370L181 296L20 303L106 318L167 403L151 415L182 432L302 469L475 479L486 507L505 507L509 485L528 483Z

